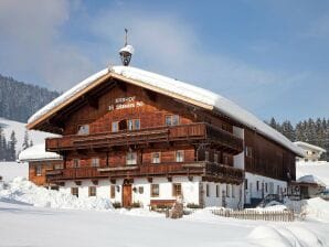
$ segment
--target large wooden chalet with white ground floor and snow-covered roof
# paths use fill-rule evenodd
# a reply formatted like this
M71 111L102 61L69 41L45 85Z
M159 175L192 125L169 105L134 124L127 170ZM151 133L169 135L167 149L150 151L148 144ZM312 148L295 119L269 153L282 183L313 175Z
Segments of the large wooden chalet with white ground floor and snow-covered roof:
M129 66L106 68L39 110L29 129L62 135L45 182L129 207L242 207L284 193L300 150L211 92ZM33 169L33 168L31 168Z

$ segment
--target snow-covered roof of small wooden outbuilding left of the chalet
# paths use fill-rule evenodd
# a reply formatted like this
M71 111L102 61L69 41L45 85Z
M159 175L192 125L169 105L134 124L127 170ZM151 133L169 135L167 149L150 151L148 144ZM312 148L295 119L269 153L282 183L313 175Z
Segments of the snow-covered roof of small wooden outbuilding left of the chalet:
M45 144L35 144L23 150L20 155L20 161L38 161L38 160L62 160L62 157L55 152L46 152Z

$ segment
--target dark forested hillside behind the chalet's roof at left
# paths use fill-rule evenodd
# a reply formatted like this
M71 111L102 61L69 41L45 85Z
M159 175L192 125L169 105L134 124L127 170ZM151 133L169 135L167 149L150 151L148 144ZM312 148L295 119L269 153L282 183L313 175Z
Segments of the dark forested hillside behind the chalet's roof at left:
M0 75L0 117L26 122L32 114L59 95Z

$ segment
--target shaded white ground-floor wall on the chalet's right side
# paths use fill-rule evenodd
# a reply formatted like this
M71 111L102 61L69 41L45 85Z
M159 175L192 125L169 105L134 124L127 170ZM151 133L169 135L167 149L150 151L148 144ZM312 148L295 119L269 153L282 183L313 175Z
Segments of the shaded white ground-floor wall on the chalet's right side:
M270 179L267 176L262 176L257 174L252 174L250 172L245 173L245 179L247 180L247 189L245 190L245 203L251 203L251 198L262 198L263 192L262 187L264 184L264 196L267 194L277 194L277 186L279 186L279 194L287 190L287 182ZM259 181L259 190L257 191L257 181ZM245 182L244 182L245 183ZM265 190L267 183L267 192Z

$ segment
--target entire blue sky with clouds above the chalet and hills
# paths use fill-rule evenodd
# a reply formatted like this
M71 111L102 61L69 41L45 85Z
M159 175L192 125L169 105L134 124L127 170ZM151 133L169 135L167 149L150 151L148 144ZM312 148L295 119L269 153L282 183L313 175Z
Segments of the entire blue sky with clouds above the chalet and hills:
M329 117L329 1L0 2L0 73L65 90L119 63L219 93L262 119Z

